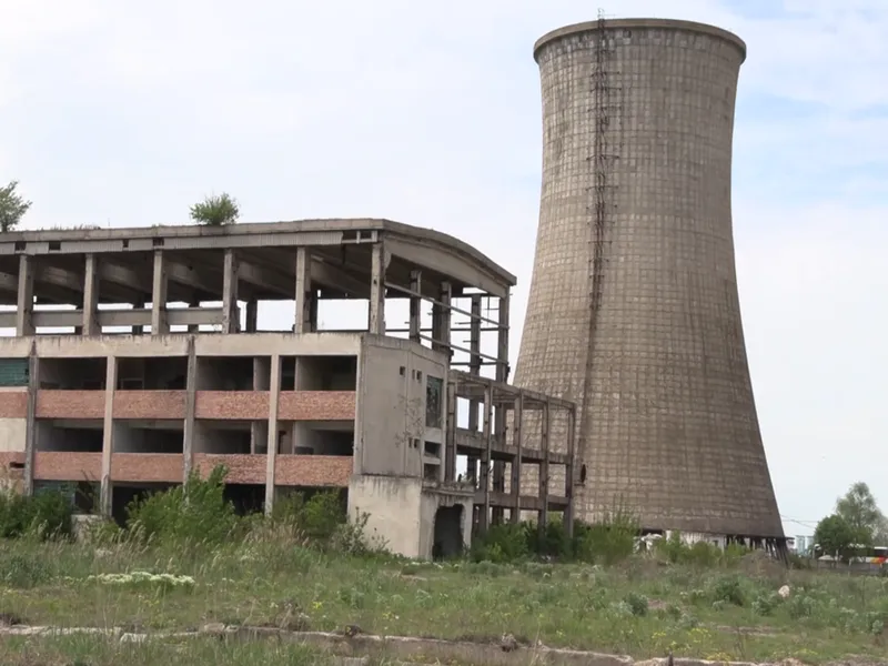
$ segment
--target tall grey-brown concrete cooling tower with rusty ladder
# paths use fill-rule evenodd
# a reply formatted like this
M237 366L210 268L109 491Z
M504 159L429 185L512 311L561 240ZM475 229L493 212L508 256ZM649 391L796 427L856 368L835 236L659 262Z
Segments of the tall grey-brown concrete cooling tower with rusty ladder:
M581 406L576 517L628 509L643 528L779 547L731 231L746 47L699 23L598 20L534 57L543 188L514 381Z

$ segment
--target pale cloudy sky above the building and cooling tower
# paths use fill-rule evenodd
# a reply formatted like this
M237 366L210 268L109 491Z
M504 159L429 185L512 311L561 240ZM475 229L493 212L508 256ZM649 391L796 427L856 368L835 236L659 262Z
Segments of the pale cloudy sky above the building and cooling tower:
M747 42L734 229L780 513L789 535L813 534L857 481L888 511L888 3L601 2ZM0 0L0 182L21 182L33 229L186 223L226 191L244 221L444 231L518 276L514 363L542 169L532 47L597 9Z

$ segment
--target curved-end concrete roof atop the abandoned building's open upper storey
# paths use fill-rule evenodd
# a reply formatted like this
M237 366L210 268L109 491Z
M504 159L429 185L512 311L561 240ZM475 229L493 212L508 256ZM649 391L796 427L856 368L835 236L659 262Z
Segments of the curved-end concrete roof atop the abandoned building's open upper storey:
M504 295L517 282L515 275L503 266L452 235L391 220L330 219L242 222L228 226L192 224L4 233L0 234L0 291L10 291L18 270L16 258L22 254L36 259L41 266L38 282L42 275L43 282L50 286L64 287L71 282L73 273L82 269L78 255L97 254L110 264L103 269L103 280L121 283L130 291L141 291L140 282L147 282L145 286L151 284L151 254L163 250L172 262L182 264L171 274L171 280L190 289L196 285L199 293L209 297L218 291L216 283L221 285L215 275L221 264L213 255L235 249L239 261L248 264L242 278L248 282L253 280L260 296L281 297L295 284L295 253L292 251L297 246L311 249L319 284L326 284L335 291L339 285L356 284L355 281L369 285L370 250L377 241L384 242L391 255L386 281L397 284L408 286L410 272L414 269L422 272L424 291L426 285L433 289L435 282L448 281L457 293L470 287ZM124 275L125 271L138 271L139 274ZM186 274L189 271L191 273ZM325 283L323 276L334 271L347 273L345 278L352 280L327 280ZM6 274L4 279L2 274ZM208 280L202 281L201 276ZM201 286L208 282L212 284L205 289ZM278 286L260 289L265 284Z

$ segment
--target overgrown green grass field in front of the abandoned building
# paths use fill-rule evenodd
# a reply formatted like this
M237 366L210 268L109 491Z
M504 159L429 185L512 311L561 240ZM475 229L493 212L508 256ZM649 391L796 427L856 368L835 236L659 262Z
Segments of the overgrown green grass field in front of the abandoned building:
M172 576L158 576L164 573ZM811 664L888 655L888 578L787 572L756 555L730 566L698 567L650 556L612 567L431 565L323 554L273 533L178 549L131 541L97 547L26 538L0 542L0 613L30 625L128 630L208 623L316 630L357 625L369 634L472 640L512 634L523 644L636 658L669 649L683 657L794 657ZM785 584L790 596L781 599L777 591ZM24 644L39 658L17 660L31 658L27 652L13 657ZM3 664L70 664L78 657L91 666L171 658L195 665L323 663L304 647L223 648L218 640L133 646L72 636L7 638L0 645Z

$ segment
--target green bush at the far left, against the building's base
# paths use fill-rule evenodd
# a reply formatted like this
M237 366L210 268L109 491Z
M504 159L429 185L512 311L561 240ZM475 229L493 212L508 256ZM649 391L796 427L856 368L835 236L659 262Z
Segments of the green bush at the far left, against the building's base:
M71 535L73 506L69 488L52 488L31 496L0 493L0 537L33 535L41 539Z

